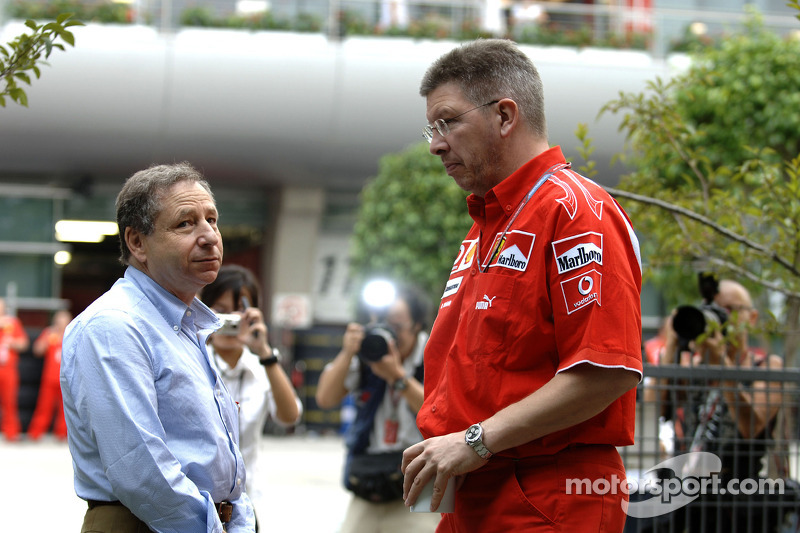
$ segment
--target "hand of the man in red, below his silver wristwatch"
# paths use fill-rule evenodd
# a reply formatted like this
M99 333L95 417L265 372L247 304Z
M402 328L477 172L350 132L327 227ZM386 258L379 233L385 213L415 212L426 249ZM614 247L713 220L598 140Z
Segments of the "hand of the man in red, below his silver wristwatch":
M416 503L423 487L431 479L433 496L431 511L435 512L444 497L447 482L456 483L456 489L463 482L462 476L477 470L487 463L486 459L475 453L464 440L465 431L450 433L441 437L433 437L417 443L403 452L403 499L406 506Z

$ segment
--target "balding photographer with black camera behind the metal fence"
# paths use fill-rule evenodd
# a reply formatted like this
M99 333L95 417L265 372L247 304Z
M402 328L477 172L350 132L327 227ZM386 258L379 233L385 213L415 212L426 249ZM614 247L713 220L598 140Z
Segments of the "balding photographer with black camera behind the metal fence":
M679 317L684 308L678 308L677 314L673 314L674 327L668 331L660 364L783 368L780 356L767 355L763 350L750 347L749 331L758 320L758 311L753 308L750 293L743 285L732 280L721 280L717 285L713 277L701 275L700 287L706 302L702 306L706 322L711 325L695 329L705 330L703 337L694 332L687 334ZM781 383L707 380L686 385L673 389L676 453L716 454L722 461L719 476L723 483L731 479L763 477L759 473L768 456L783 402ZM737 526L742 527L742 531L775 531L780 513L764 516L765 505L746 504L752 504L753 498L769 496L704 495L697 502L700 505L690 504L686 508L686 531L727 532Z

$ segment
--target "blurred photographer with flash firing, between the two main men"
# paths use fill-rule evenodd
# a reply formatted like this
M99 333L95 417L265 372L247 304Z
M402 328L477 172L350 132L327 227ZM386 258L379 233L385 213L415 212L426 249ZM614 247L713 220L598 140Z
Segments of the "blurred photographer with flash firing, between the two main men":
M416 415L422 405L422 354L430 303L414 288L400 289L385 325L348 324L342 350L319 378L317 405L338 406L355 396L356 419L347 435L345 487L354 493L341 533L434 531L439 514L413 514L403 502L403 450L422 441ZM367 334L365 334L367 333ZM386 350L365 350L381 334ZM365 336L367 337L366 342Z

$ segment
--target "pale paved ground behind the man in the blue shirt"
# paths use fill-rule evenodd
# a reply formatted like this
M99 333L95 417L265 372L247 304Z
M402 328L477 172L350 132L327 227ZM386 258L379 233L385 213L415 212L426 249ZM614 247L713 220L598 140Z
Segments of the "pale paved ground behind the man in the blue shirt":
M263 447L268 506L258 509L267 526L261 531L338 532L350 499L340 483L341 438L266 437ZM0 531L80 531L86 503L72 487L67 445L0 441L0 502Z

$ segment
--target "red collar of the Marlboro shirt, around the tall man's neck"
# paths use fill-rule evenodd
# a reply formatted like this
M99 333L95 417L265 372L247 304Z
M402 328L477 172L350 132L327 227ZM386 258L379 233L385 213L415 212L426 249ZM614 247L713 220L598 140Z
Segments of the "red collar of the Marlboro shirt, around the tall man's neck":
M563 162L561 147L554 146L545 150L489 189L486 196L470 194L467 197L470 216L481 228L485 226L486 219L502 214L511 216L536 181L553 165Z

